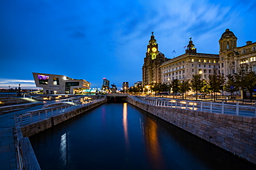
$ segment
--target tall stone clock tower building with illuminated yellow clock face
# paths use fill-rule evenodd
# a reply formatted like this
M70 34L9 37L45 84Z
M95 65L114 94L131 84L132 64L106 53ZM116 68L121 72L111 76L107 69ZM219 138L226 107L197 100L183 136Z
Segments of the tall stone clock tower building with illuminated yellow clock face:
M158 51L158 44L152 32L151 39L147 45L146 57L143 64L143 86L152 83L161 83L161 70L162 63L167 61L165 55Z

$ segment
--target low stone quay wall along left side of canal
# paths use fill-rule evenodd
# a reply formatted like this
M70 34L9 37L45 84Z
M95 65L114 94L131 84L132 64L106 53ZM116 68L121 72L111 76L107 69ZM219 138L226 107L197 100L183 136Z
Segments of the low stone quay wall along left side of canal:
M85 111L88 111L89 109L93 109L94 107L98 107L99 105L102 105L102 103L106 103L106 102L107 102L107 98L105 98L105 100L102 100L98 103L86 105L84 107L80 107L73 111L68 111L64 114L60 114L60 115L53 116L53 117L50 117L50 118L47 118L44 120L40 120L39 122L36 122L36 123L31 123L29 125L22 126L22 127L20 127L21 133L24 137L33 136L41 131L44 131L44 130L49 129L55 125L58 125L70 118L73 118L79 114L82 114Z

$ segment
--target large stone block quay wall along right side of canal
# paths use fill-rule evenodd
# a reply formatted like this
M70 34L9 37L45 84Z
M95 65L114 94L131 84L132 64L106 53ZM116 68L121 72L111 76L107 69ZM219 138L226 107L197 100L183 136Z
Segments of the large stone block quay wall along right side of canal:
M256 118L127 102L256 164Z

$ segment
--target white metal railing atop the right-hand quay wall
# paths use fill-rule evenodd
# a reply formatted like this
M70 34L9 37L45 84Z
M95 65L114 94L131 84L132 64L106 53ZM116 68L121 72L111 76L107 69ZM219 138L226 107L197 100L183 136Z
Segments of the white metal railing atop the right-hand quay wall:
M131 96L132 97L132 96ZM190 109L197 111L208 111L219 114L235 114L239 116L254 116L256 117L256 103L254 106L235 105L222 103L214 103L212 101L194 101L194 100L175 100L164 98L148 98L148 97L132 97L140 103L154 105L160 107L174 107L179 109Z

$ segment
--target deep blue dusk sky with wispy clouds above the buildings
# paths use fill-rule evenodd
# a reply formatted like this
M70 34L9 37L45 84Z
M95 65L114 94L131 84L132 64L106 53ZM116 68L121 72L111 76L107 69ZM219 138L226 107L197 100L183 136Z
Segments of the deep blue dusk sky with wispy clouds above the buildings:
M33 88L32 72L131 86L152 31L169 59L190 37L197 52L219 54L226 28L237 46L255 42L255 20L254 0L1 0L0 88Z

